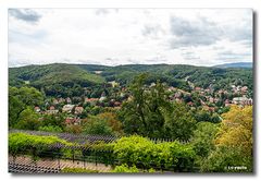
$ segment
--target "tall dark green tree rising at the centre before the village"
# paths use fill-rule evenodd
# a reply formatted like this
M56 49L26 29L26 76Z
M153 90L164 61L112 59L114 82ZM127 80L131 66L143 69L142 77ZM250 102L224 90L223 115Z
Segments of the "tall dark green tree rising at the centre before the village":
M130 85L132 99L123 104L120 118L126 133L144 136L162 137L164 117L162 109L167 109L165 86L157 82L154 86L145 85L147 74L136 77Z

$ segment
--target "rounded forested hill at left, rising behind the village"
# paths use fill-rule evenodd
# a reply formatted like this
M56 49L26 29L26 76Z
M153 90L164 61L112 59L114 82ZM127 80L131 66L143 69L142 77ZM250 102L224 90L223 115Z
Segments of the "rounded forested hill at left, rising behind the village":
M29 81L29 85L44 88L48 96L79 96L83 87L102 84L104 79L73 64L28 65L10 68L10 85ZM23 84L22 84L23 85Z

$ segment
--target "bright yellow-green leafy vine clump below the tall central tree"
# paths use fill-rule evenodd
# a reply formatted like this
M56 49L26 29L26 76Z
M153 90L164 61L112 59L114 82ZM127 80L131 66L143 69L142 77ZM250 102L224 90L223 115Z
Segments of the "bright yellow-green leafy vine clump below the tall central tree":
M115 157L122 164L151 168L174 168L178 171L189 169L194 165L195 152L190 145L178 142L153 143L141 136L122 137L113 147Z

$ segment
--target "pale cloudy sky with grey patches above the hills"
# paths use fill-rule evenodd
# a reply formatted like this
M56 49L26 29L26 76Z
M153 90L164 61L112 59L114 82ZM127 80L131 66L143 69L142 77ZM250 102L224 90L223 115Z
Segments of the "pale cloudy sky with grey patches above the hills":
M250 9L9 10L9 67L251 61Z

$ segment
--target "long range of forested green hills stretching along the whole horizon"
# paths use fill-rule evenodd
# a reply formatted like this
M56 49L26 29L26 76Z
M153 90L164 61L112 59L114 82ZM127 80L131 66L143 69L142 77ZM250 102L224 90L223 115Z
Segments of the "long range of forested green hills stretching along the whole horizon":
M97 64L47 64L9 69L9 84L22 86L30 84L45 90L63 92L64 87L97 86L110 81L127 85L140 73L149 73L148 84L160 80L170 86L189 89L189 84L214 89L232 84L247 85L252 89L252 69L207 68L183 64L126 64L107 67Z

